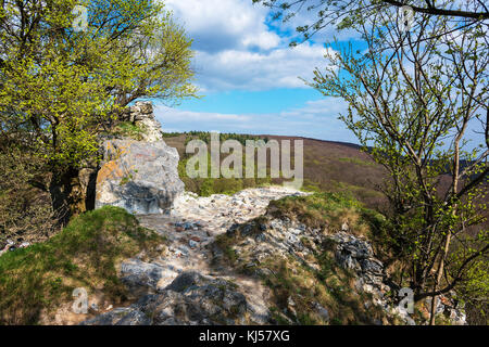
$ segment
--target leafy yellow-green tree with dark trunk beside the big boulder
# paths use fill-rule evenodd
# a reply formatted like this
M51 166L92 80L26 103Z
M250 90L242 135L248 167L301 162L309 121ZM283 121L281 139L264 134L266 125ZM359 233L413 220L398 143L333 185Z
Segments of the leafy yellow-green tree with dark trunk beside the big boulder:
M87 9L84 30L75 5ZM1 1L1 131L47 160L57 210L70 215L72 180L124 106L195 95L190 46L155 1Z

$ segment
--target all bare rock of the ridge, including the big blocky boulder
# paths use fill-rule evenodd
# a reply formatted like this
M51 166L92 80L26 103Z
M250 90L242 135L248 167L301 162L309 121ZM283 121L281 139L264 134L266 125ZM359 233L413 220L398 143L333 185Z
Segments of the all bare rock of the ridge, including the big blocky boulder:
M162 140L152 107L136 103L123 120L140 123L146 141L106 140L104 162L97 179L96 206L121 206L138 215L141 226L167 240L160 256L142 253L121 264L120 278L136 298L127 307L106 312L83 324L275 324L297 323L297 304L289 297L283 312L272 312L273 293L263 279L273 272L267 259L294 259L319 271L314 257L325 245L333 247L335 261L353 273L355 291L369 293L365 308L375 306L401 323L414 324L394 296L399 288L387 284L388 274L365 239L341 230L313 229L286 217L266 214L271 201L306 195L293 189L267 187L243 190L233 196L198 197L184 192L178 178L178 154ZM154 121L153 121L154 120ZM265 216L264 216L265 215ZM260 217L260 218L259 218ZM224 249L220 237L236 237ZM236 256L229 266L226 252ZM438 300L440 312L454 323L465 316L448 298ZM328 307L308 303L323 323L330 323ZM100 311L99 311L100 312ZM385 322L373 319L372 324Z

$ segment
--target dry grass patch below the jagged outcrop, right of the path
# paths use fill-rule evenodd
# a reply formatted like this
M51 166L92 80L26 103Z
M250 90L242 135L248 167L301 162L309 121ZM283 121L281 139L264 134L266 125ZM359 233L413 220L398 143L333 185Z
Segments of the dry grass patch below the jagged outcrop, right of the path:
M368 296L354 287L353 274L336 265L334 254L316 256L321 270L313 270L293 258L266 259L261 267L273 271L263 278L272 290L275 306L293 322L302 325L372 324L385 314L380 308L366 309ZM290 309L289 300L296 305ZM327 309L329 321L317 310L317 304Z

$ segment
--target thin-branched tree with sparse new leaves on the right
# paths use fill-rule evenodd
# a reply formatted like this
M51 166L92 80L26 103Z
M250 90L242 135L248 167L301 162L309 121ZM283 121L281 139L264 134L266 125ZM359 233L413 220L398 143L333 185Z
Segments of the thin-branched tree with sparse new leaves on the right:
M350 8L342 8L347 2ZM340 8L319 17L341 17L339 29L356 30L366 48L335 42L340 52L326 56L333 67L316 69L310 85L349 103L340 118L389 172L383 191L391 207L390 246L406 264L399 280L409 278L416 300L431 297L434 324L438 295L461 285L488 295L489 57L480 20L487 9L474 2L477 15L464 13L469 20L461 22L427 2L429 12L417 11L406 31L392 2L405 4L321 1L318 7ZM313 30L326 25L318 23ZM306 39L309 30L299 28ZM474 124L484 140L466 150Z

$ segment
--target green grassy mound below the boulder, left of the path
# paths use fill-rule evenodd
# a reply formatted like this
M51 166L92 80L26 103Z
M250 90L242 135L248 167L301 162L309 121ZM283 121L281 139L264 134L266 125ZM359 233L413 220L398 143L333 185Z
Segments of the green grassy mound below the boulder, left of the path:
M49 241L0 257L0 324L36 324L42 310L73 300L76 287L126 299L116 265L163 242L118 207L76 217Z

